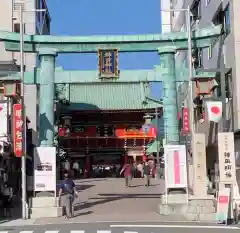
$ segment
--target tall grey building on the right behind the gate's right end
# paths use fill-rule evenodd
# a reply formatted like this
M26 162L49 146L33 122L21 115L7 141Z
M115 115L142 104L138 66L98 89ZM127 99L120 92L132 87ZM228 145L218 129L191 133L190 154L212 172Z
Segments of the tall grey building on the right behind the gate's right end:
M186 12L177 9L191 10L191 28L204 28L211 25L222 25L222 38L214 41L209 48L193 50L193 65L196 69L220 69L221 62L225 68L225 80L220 73L216 74L217 87L211 93L210 98L221 100L223 103L223 118L219 124L212 125L208 121L206 102L201 101L201 111L195 111L195 129L198 133L206 134L207 155L217 154L217 133L233 131L235 135L235 152L240 153L240 33L237 28L239 18L238 10L240 2L236 0L164 0L162 9L170 7L176 9L174 12L162 13L162 32L166 30L166 24L170 24L172 32L186 31ZM161 10L162 10L161 9ZM187 52L177 52L176 65L188 67ZM222 59L221 59L222 58ZM186 92L186 83L179 83L179 106L188 106L188 96L182 95ZM181 96L182 95L182 96ZM197 95L196 92L193 95ZM195 97L194 96L194 97ZM205 96L206 97L206 96ZM204 119L203 119L204 118ZM204 121L203 121L204 120ZM213 160L212 160L213 162ZM211 163L212 163L211 162ZM237 160L237 165L239 161Z

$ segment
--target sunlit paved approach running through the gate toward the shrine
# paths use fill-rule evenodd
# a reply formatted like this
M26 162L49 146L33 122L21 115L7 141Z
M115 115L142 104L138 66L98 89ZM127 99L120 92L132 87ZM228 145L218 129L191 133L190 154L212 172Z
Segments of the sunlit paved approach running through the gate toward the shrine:
M133 179L126 188L121 178L77 180L79 199L72 222L159 221L157 204L164 193L164 180L152 180L149 188L143 179ZM180 220L180 219L179 219ZM65 218L43 218L35 223L58 223Z

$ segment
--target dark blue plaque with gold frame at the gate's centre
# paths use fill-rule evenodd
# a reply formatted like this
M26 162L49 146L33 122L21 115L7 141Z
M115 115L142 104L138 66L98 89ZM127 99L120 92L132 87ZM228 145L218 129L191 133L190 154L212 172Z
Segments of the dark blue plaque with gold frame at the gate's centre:
M117 78L118 50L98 50L98 72L100 78Z

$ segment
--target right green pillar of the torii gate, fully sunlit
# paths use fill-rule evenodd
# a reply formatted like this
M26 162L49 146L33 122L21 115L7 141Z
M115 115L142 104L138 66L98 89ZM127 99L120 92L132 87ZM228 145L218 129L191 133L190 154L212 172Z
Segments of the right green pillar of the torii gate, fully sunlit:
M175 73L175 48L158 49L160 70L164 80L163 118L166 144L179 144L180 131L177 107L177 83Z

